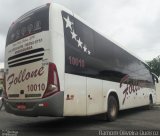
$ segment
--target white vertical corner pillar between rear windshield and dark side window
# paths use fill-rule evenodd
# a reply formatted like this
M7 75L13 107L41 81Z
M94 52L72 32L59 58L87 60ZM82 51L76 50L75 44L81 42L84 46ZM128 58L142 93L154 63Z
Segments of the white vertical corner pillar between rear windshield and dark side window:
M64 9L69 14L72 15L72 12ZM60 90L65 90L65 43L64 43L64 32L63 32L63 20L62 20L62 6L52 3L50 6L49 13L49 29L50 29L50 62L53 62L58 71L59 81L60 81Z

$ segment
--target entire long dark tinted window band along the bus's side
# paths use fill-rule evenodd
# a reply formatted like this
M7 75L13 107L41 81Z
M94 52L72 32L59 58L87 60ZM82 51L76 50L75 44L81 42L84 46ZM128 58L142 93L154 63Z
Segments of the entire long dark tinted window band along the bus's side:
M65 72L120 82L152 83L145 65L73 16L62 12L65 36ZM143 82L142 82L143 81Z

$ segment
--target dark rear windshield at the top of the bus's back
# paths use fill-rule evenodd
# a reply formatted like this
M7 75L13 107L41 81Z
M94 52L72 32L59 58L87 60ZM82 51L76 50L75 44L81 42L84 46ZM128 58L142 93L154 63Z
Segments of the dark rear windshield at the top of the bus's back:
M21 16L9 28L6 46L29 35L49 30L49 4Z

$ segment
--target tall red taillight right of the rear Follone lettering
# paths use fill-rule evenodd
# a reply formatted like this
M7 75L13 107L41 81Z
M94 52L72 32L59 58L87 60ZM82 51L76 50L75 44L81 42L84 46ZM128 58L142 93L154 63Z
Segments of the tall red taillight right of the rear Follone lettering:
M60 85L59 85L57 68L55 64L49 63L48 84L47 84L47 89L43 95L43 98L55 94L58 91L60 91Z

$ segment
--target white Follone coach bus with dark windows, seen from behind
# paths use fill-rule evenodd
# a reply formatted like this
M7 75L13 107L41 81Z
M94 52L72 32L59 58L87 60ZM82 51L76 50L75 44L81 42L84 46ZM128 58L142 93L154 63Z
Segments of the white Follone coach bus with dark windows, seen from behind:
M154 104L156 79L145 62L56 3L22 15L7 34L8 113L113 121L119 110Z

